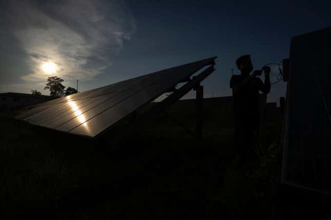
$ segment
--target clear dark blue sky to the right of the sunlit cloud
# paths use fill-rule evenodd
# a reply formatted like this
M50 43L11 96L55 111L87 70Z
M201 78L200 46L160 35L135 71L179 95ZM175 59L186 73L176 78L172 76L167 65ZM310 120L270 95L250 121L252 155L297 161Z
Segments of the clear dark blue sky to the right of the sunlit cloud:
M236 3L233 3L236 2ZM152 72L218 56L217 71L204 81L205 95L230 95L236 58L251 54L256 69L289 56L291 36L331 25L329 3L248 1L130 1L137 32L113 59L115 71ZM272 81L278 74L274 67ZM108 75L100 75L108 78ZM284 96L286 83L272 87L269 101ZM191 95L192 96L192 95Z

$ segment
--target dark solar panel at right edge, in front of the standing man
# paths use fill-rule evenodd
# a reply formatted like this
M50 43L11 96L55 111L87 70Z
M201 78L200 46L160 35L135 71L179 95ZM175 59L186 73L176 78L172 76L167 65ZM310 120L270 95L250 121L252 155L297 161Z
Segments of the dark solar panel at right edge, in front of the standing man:
M331 193L331 28L293 37L282 183Z

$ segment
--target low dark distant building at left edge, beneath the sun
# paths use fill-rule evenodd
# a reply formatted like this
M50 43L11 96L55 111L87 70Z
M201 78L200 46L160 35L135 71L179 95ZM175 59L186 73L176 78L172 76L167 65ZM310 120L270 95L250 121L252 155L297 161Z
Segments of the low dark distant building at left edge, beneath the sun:
M16 110L52 99L50 96L37 96L25 93L0 93L0 109Z

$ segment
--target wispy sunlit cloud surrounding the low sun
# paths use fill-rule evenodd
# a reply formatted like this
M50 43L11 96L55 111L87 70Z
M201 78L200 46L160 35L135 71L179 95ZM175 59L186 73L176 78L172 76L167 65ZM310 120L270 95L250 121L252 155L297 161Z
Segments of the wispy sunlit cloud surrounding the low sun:
M54 75L89 80L111 65L111 56L135 32L134 18L122 1L11 1L10 30L28 55L26 82L45 82L42 70L54 62Z

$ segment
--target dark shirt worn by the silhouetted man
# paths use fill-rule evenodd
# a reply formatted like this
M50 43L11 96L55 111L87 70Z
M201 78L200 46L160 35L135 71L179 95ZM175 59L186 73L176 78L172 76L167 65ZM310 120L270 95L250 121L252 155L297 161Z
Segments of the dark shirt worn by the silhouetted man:
M240 85L248 76L233 75L230 80L230 87ZM265 88L262 80L258 77L249 79L241 86L236 94L233 94L233 115L235 126L247 126L257 129L260 124L259 114L259 91Z

